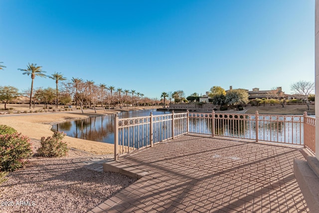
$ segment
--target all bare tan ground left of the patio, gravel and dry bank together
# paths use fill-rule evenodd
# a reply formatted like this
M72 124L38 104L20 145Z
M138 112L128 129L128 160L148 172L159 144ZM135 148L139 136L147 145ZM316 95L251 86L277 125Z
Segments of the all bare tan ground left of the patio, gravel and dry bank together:
M11 126L31 138L36 154L41 137L53 134L50 124L92 115L96 115L92 110L86 110L85 114L79 110L10 114L0 115L0 124ZM114 152L112 144L67 136L64 141L69 148L75 149L69 150L67 157L40 158L35 155L25 168L6 176L8 180L0 185L0 213L85 213L136 181L73 163L78 158L110 160L112 155L109 153Z

